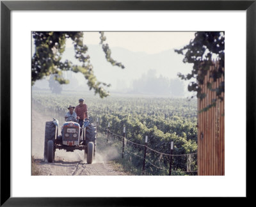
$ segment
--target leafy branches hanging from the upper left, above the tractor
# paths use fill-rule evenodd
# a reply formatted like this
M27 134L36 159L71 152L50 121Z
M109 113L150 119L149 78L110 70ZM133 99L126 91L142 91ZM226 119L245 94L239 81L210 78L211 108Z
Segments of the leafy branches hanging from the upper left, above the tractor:
M35 40L35 54L32 57L31 67L31 81L32 86L35 81L40 80L46 76L54 75L54 79L60 84L67 84L68 80L64 79L63 71L81 72L87 80L87 84L99 94L100 98L109 95L104 87L109 87L110 84L97 81L93 73L93 66L90 64L90 56L86 54L88 47L83 43L83 32L40 32L32 33ZM102 33L104 35L104 33ZM74 65L71 61L61 61L61 56L65 51L65 43L67 38L71 38L74 45L74 52L76 59L81 65ZM103 45L102 45L103 46ZM110 57L111 50L108 44L105 45L104 52L108 53L108 61L113 61ZM113 65L120 65L116 63ZM124 68L123 65L122 68Z

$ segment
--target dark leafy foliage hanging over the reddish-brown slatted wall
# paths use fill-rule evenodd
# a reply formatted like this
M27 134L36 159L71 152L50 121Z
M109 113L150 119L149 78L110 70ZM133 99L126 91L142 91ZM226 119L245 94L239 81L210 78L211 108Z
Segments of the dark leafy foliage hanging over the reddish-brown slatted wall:
M188 45L182 49L175 50L178 54L184 55L184 63L193 63L193 70L187 75L178 76L184 80L196 79L196 82L190 82L188 91L195 91L197 98L202 100L205 98L205 93L202 92L202 84L204 83L205 75L211 65L213 65L212 58L215 57L216 61L219 61L220 66L213 70L210 77L213 82L216 82L222 76L225 76L223 70L225 66L225 33L224 32L196 32L194 40L191 40ZM216 92L216 96L221 101L223 97L221 93L225 91L225 82L221 82L220 87L213 89L212 84L207 82L207 88ZM217 99L213 99L203 111L207 111L209 108L214 107Z

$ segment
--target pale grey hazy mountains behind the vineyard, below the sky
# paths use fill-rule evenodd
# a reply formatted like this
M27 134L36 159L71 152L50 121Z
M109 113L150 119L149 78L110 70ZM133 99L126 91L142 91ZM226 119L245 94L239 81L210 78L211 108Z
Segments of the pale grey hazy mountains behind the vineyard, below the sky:
M110 45L111 46L111 45ZM156 77L165 79L179 79L177 73L189 73L192 65L182 62L183 56L174 52L173 49L166 50L157 54L147 54L145 52L132 52L120 47L111 47L112 57L120 61L125 69L118 66L112 66L106 61L101 45L88 45L87 54L90 55L93 70L99 81L110 83L109 91L127 92L134 91L134 81L143 79L149 70L156 70ZM62 59L69 59L72 63L81 65L74 57L74 49L67 48L63 53ZM65 77L70 79L70 73ZM177 81L176 81L177 82ZM36 81L35 86L38 88L49 88L48 81ZM188 82L184 82L184 91L187 91ZM161 86L163 87L163 86ZM157 88L157 85L154 85ZM70 84L63 85L63 90L86 90L86 80L80 73L72 73Z

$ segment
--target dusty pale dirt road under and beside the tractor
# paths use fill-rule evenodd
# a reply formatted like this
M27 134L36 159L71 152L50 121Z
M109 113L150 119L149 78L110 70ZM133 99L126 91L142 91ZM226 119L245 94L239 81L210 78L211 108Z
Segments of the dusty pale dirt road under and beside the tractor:
M116 171L113 165L109 164L108 158L100 155L100 151L97 151L97 156L92 164L86 164L84 151L79 150L74 152L56 150L54 162L44 162L45 121L51 119L32 107L32 155L35 157L36 171L40 175L125 175Z

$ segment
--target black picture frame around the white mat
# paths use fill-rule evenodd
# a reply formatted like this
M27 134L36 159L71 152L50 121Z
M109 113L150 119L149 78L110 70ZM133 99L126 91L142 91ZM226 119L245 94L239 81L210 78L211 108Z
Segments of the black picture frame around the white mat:
M10 197L10 12L12 10L246 10L246 197L253 196L250 188L253 187L255 178L248 160L252 159L249 155L255 151L256 143L255 0L1 1L1 206L144 206L152 199L141 197L134 202L124 197Z

